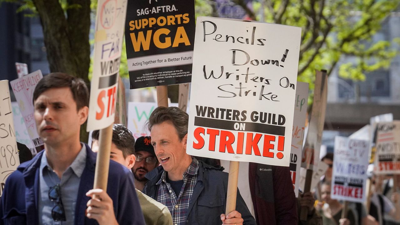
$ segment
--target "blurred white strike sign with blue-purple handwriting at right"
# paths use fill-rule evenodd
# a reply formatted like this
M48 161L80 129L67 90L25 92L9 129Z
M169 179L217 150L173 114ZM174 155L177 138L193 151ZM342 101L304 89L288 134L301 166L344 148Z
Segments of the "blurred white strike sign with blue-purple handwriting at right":
M335 137L332 199L365 201L369 149L368 141Z

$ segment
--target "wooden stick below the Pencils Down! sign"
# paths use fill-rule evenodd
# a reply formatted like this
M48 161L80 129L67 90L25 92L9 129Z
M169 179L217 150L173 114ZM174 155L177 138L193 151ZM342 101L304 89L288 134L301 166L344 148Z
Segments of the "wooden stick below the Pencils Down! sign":
M230 161L229 163L229 179L228 193L226 194L226 210L225 215L236 209L236 194L238 189L239 162Z

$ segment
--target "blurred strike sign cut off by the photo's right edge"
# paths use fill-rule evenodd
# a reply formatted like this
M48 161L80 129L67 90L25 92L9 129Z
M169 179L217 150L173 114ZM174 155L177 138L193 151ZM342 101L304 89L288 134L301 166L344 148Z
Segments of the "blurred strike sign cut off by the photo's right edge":
M376 174L400 174L400 121L376 126Z

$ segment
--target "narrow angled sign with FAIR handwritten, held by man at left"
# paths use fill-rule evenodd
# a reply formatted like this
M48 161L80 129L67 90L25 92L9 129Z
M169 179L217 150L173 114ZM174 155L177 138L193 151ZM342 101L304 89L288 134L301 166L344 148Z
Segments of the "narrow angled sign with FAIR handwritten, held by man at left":
M86 131L114 123L127 0L99 0Z

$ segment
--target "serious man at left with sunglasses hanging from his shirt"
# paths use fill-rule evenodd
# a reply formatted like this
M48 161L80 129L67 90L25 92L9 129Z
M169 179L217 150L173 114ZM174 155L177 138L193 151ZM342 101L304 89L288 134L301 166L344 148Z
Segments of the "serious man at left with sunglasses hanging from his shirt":
M92 189L96 154L79 141L88 96L83 80L68 74L52 73L38 82L34 118L45 150L6 180L2 224L144 225L128 169L111 161L107 192Z

